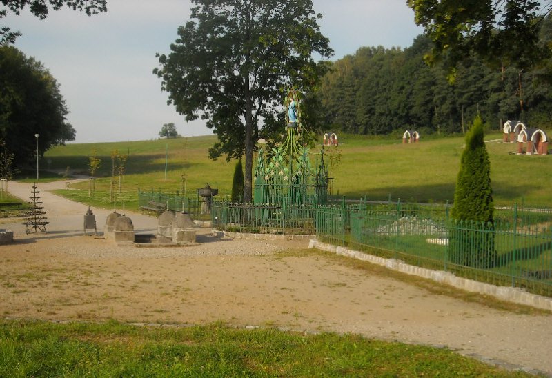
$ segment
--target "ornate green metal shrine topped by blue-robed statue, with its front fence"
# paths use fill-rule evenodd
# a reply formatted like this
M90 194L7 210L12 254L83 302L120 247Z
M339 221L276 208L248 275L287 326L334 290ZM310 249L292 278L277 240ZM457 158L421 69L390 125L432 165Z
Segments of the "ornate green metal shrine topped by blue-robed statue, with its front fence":
M306 141L311 139L301 117L299 93L290 90L286 134L265 155L259 150L253 203L219 202L211 219L219 229L256 233L313 234L318 205L328 201L328 170L324 148L311 165Z

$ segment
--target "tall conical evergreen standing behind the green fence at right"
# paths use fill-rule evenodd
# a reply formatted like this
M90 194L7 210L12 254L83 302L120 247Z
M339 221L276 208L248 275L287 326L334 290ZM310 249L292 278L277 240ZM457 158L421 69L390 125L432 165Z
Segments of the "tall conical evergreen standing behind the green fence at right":
M474 268L492 268L496 261L491 164L477 115L466 134L451 212L451 261Z

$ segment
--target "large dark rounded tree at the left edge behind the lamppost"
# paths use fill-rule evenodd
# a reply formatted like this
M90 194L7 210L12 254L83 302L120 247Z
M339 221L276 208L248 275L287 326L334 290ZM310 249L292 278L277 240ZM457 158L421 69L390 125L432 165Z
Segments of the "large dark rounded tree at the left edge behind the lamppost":
M75 140L59 84L39 61L12 46L0 46L0 139L14 152L14 163L52 146Z

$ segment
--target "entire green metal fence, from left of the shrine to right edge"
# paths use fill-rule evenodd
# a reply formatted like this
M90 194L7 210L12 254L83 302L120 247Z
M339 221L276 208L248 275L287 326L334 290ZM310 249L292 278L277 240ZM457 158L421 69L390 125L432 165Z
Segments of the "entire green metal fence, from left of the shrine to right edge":
M201 199L178 193L139 192L140 206L166 203L201 219ZM552 296L552 210L497 208L493 223L455 222L450 206L335 201L332 206L212 203L219 230L313 235L381 257L453 272L459 277L520 287Z

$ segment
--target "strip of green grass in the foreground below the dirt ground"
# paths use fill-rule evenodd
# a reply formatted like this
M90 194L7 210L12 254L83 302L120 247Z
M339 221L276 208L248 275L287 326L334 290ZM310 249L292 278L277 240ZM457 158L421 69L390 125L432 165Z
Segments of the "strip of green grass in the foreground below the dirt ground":
M0 348L3 377L529 377L447 349L223 324L1 321Z

